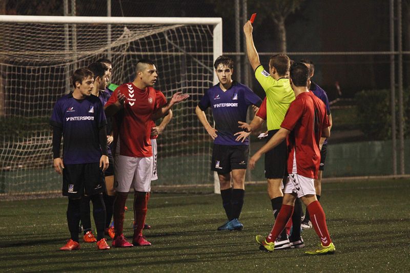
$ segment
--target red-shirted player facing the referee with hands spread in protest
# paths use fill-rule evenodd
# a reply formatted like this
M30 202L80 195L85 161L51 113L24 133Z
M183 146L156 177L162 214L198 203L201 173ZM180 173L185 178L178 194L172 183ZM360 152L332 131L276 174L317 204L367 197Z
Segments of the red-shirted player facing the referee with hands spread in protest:
M158 74L154 63L141 59L137 62L136 76L132 82L115 89L106 104L107 116L114 115L114 169L115 191L114 228L112 245L128 247L151 245L142 236L147 204L151 191L153 156L151 147L152 120L165 116L173 104L189 97L177 92L169 103L164 96L157 96L153 85ZM124 206L130 187L134 188L133 244L122 235Z

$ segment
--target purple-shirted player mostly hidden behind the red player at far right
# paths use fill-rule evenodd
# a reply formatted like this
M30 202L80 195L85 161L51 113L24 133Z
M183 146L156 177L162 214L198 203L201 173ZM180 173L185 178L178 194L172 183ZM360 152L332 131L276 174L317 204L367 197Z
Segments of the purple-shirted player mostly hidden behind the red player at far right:
M303 62L308 69L309 69L309 85L308 88L309 90L315 94L316 97L320 98L325 107L326 107L326 113L327 113L327 118L329 118L329 122L331 123L330 128L332 129L332 114L330 112L330 106L329 106L329 99L327 98L326 92L320 88L320 86L317 85L317 83L312 81L312 77L315 74L315 65L313 64L313 61L310 59L302 59L300 62ZM317 179L315 179L315 190L316 190L316 198L317 200L320 199L320 195L322 192L322 173L324 170L324 163L326 161L326 154L327 154L327 138L320 138L319 142L319 148L320 148L320 165L319 165L319 172L317 175ZM301 223L301 227L303 229L311 229L312 228L312 222L310 219L310 215L308 212L308 209L306 209L306 213L304 215L304 219Z

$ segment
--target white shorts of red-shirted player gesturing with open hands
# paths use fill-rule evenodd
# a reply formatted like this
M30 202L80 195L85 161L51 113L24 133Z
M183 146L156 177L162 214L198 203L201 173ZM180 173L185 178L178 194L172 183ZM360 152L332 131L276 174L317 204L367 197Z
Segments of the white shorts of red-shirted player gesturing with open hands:
M150 192L153 162L152 156L116 156L114 160L115 191L128 193L132 187L138 192Z

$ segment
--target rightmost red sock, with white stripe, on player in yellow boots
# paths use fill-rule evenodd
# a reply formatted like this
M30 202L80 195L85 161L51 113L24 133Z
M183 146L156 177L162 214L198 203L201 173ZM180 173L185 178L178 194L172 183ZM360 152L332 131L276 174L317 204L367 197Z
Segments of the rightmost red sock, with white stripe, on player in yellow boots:
M324 215L323 208L319 201L314 201L308 206L311 222L315 228L316 234L319 236L323 246L328 246L332 242L327 231L326 216Z

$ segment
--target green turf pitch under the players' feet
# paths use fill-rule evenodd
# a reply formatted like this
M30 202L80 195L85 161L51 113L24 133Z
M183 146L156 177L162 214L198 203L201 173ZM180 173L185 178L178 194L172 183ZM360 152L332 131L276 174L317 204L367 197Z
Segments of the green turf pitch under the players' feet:
M410 265L410 181L325 183L321 203L335 255L306 256L304 249L262 253L254 237L267 235L272 209L265 185L248 185L242 232L216 232L224 222L220 196L154 193L145 231L153 245L100 251L81 243L59 251L68 238L65 198L0 202L0 271L399 271ZM131 195L130 195L131 198ZM132 205L126 237L132 235ZM318 244L313 229L306 248Z

